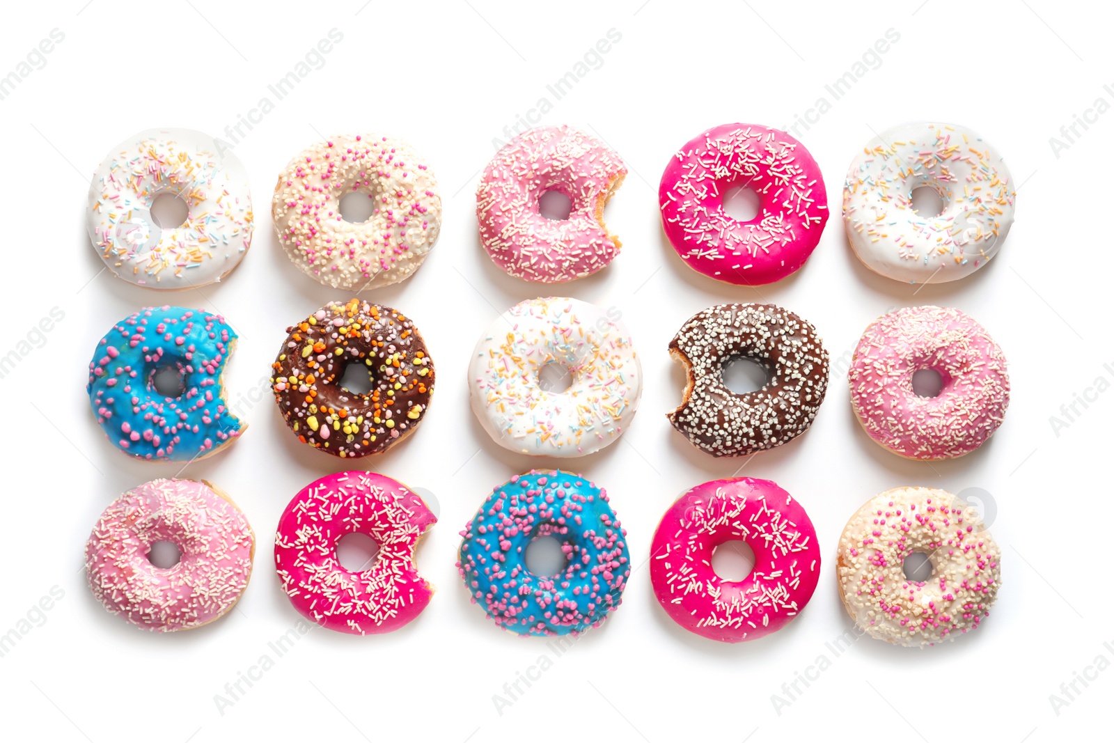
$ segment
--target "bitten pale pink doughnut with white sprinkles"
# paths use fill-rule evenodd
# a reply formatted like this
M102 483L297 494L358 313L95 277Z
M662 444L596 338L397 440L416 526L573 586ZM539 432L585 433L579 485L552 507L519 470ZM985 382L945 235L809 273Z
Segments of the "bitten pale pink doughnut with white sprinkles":
M603 214L626 174L618 154L584 131L569 126L524 131L495 154L480 176L480 242L511 276L545 284L590 276L622 247ZM541 215L541 195L550 190L568 197L568 218Z

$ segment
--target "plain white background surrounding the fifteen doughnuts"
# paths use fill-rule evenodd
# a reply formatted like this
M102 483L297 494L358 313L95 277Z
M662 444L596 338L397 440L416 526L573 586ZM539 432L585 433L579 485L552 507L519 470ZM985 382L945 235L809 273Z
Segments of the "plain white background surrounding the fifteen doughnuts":
M1108 7L753 0L680 10L665 0L544 8L372 0L361 10L363 0L190 1L19 3L0 25L0 75L51 29L65 33L42 68L0 100L7 203L0 355L21 348L51 307L65 312L45 341L35 336L41 348L2 380L10 479L0 633L30 627L0 657L6 739L656 743L1100 735L1114 671L1098 673L1089 687L1077 683L1081 693L1058 715L1049 695L1067 700L1061 684L1097 655L1114 661L1103 647L1114 641L1104 622L1111 592L1097 586L1114 517L1098 479L1114 394L1088 393L1095 401L1077 404L1081 414L1058 436L1049 417L1063 418L1061 405L1096 378L1114 380L1114 366L1103 365L1114 362L1106 224L1114 114L1097 117L1089 130L1077 127L1082 136L1059 157L1048 138L1096 98L1114 101L1103 90L1114 84ZM333 27L344 38L323 67L253 130L243 129L235 146L256 205L256 239L240 270L204 294L174 295L98 274L84 228L86 188L108 148L156 126L222 135ZM612 28L622 39L602 66L554 101L546 85L573 70ZM833 101L824 85L890 28L900 40ZM691 486L742 469L797 496L827 563L807 610L768 638L729 646L686 634L657 606L643 567L606 626L556 657L544 641L497 629L469 604L457 575L458 532L491 488L531 465L556 463L510 454L488 440L472 419L466 385L472 344L496 313L547 293L490 263L477 241L473 195L492 138L505 138L504 127L543 96L554 105L544 123L597 134L631 168L607 209L623 253L598 275L560 291L618 306L645 373L641 409L623 439L563 465L608 490L636 566L661 514ZM863 268L837 217L804 268L771 286L734 287L684 267L664 242L656 207L671 153L722 123L791 125L821 96L831 110L798 134L823 170L836 215L846 168L872 129L932 119L966 124L989 139L1022 184L1017 221L998 257L962 282L916 291ZM287 159L319 136L342 131L408 139L442 188L443 231L424 266L401 285L363 294L416 319L437 364L434 401L412 439L358 462L436 493L440 522L418 557L438 593L419 619L391 635L314 629L221 714L214 695L261 655L273 656L267 643L297 619L272 568L278 515L300 488L346 462L300 444L270 398L242 404L251 423L244 438L183 476L214 481L247 514L258 542L252 584L238 610L208 627L165 636L137 630L91 596L84 544L120 492L174 476L179 466L134 462L108 443L88 408L86 368L96 341L138 306L205 307L241 333L227 378L232 404L253 390L257 397L284 329L329 300L345 299L294 268L268 215ZM725 301L771 301L800 313L823 335L836 369L811 431L735 461L696 451L664 417L677 404L683 380L666 353L668 340L692 313ZM870 442L839 374L870 321L892 306L931 303L957 306L989 330L1010 361L1014 392L1005 424L987 446L935 465L905 461ZM837 539L862 502L902 485L991 493L991 529L1004 549L998 603L977 632L955 643L916 651L863 638L834 657L824 644L851 626L836 589ZM47 612L32 610L52 586L63 597ZM35 622L20 624L29 612ZM500 714L492 695L505 695L504 684L543 654L551 667ZM831 666L809 688L801 685L804 693L779 714L771 695L783 694L781 685L821 654Z

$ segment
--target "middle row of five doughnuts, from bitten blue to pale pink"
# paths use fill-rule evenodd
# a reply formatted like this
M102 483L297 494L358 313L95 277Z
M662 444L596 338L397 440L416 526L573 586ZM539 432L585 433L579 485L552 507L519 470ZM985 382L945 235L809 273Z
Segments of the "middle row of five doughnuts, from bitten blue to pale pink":
M275 402L299 441L342 459L381 453L426 417L436 366L414 322L392 307L333 302L287 329L271 370ZM228 409L221 378L236 342L212 313L164 305L115 324L89 362L89 404L108 440L144 460L193 461L246 428ZM670 343L686 384L667 414L693 446L737 457L791 441L812 424L828 388L828 352L815 327L772 304L721 304L690 317ZM723 379L736 358L755 359L769 379L736 393ZM356 365L368 392L343 385ZM541 374L568 370L566 390ZM913 373L940 374L936 397L912 389ZM182 392L159 392L156 374L178 374ZM642 365L618 313L544 297L516 304L480 335L468 370L471 407L501 447L524 454L579 457L631 426ZM1000 426L1009 404L1001 349L954 309L905 307L870 324L848 372L856 417L886 449L919 460L961 457Z

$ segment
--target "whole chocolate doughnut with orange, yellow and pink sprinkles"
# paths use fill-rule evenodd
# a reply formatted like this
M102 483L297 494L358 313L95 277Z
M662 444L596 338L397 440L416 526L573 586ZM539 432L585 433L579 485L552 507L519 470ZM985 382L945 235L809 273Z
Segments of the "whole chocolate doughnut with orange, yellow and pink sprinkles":
M433 360L412 320L371 302L330 302L296 325L271 364L271 389L299 441L341 458L387 451L421 423ZM372 389L341 387L349 364Z

